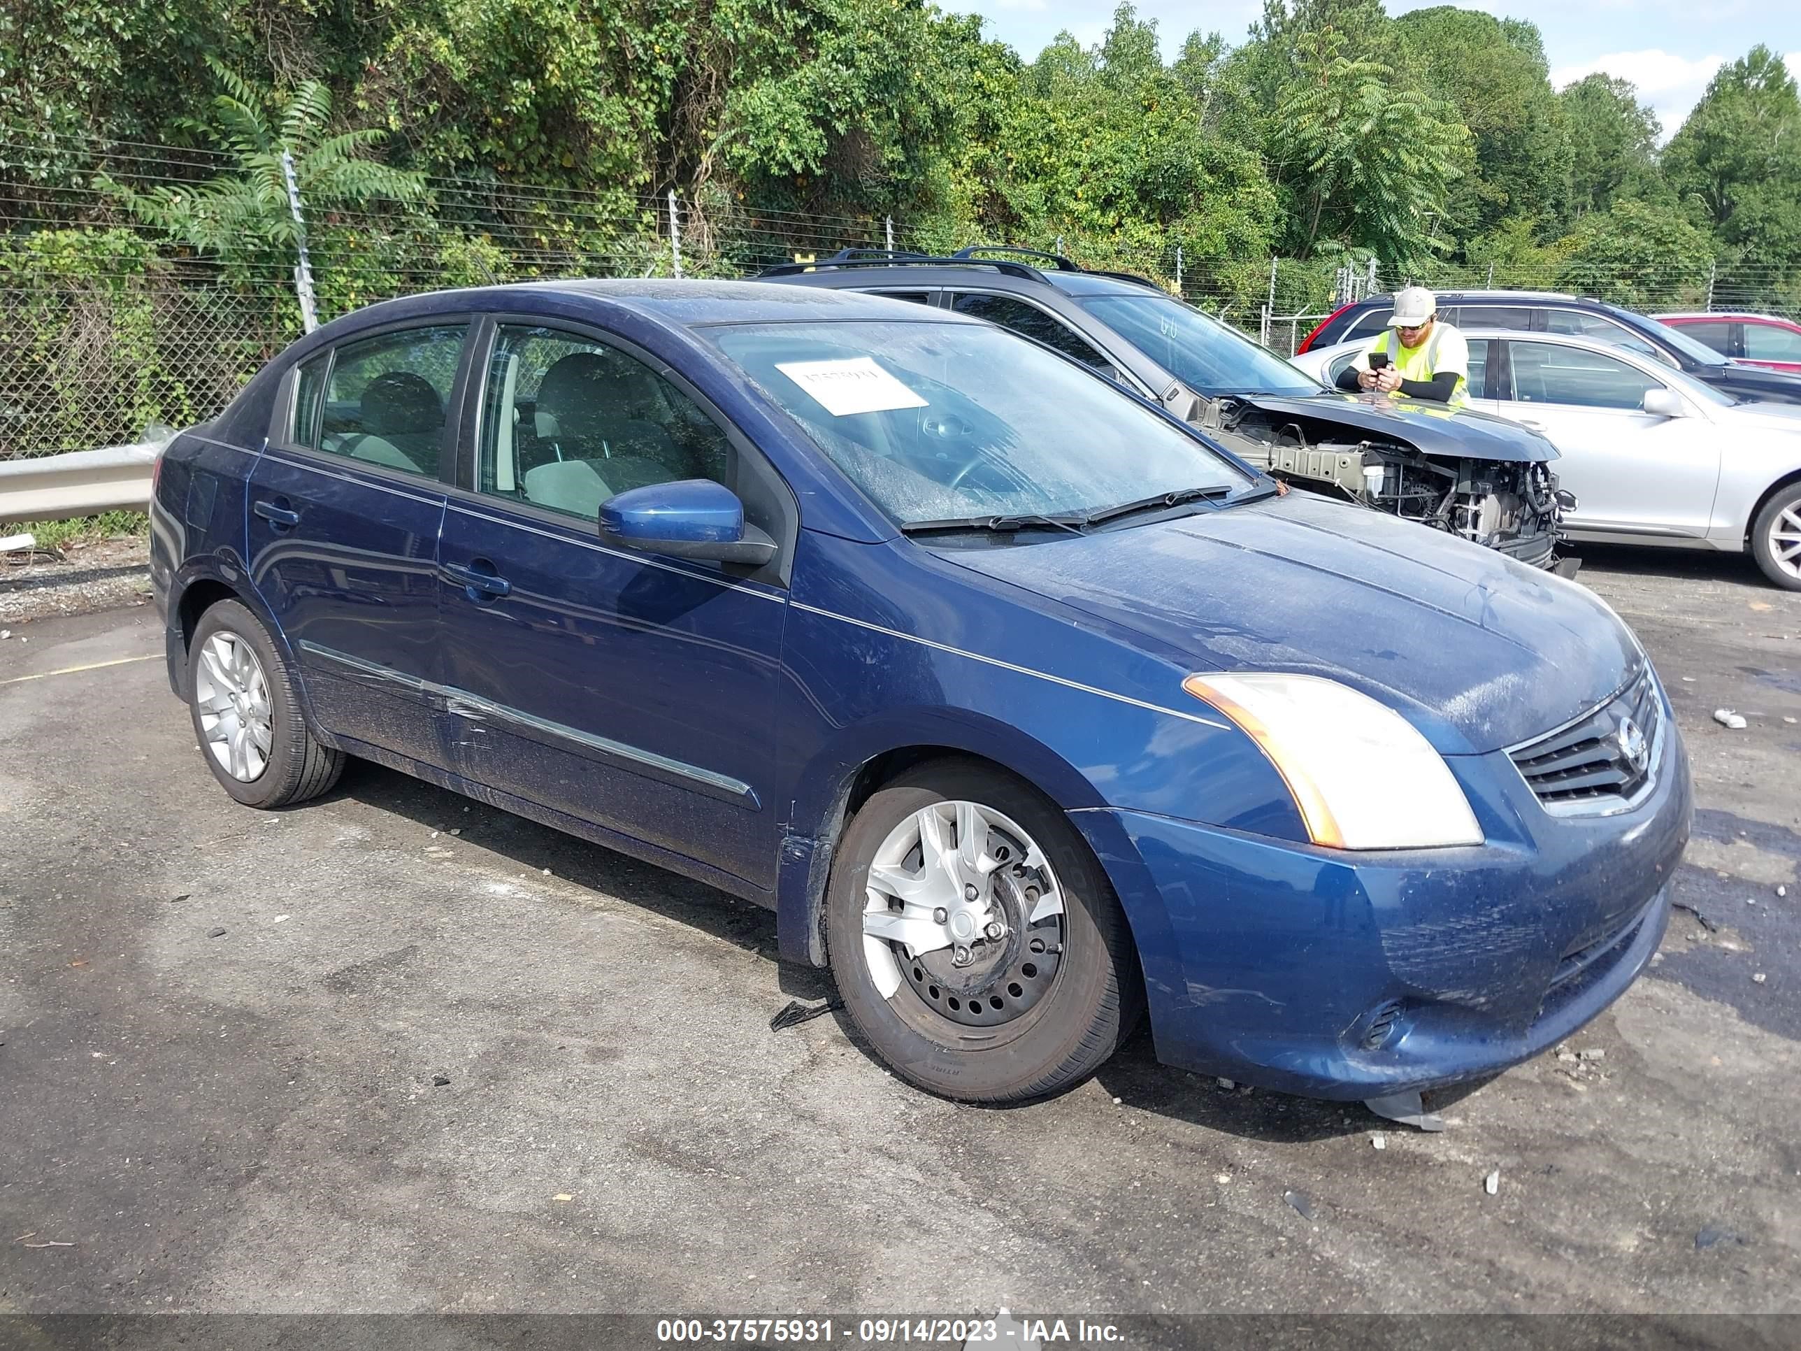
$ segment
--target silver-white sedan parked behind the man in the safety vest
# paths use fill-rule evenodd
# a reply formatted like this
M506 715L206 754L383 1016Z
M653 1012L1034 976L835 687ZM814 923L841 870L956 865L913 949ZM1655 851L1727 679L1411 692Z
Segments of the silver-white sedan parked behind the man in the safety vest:
M1565 333L1464 330L1470 407L1563 452L1572 540L1751 549L1801 591L1801 405L1740 403L1635 351ZM1335 384L1367 339L1293 358ZM1362 398L1372 398L1363 394Z

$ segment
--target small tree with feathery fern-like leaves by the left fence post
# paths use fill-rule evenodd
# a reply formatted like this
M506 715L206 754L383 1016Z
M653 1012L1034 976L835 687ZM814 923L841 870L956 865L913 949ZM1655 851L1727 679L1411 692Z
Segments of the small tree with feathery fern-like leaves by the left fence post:
M357 205L371 198L420 202L425 178L366 159L385 139L380 128L330 133L331 92L317 79L286 95L252 88L216 61L223 92L213 99L220 146L234 171L202 184L160 184L137 191L103 178L131 214L202 252L231 263L292 256L301 225L288 204L285 157L312 207Z

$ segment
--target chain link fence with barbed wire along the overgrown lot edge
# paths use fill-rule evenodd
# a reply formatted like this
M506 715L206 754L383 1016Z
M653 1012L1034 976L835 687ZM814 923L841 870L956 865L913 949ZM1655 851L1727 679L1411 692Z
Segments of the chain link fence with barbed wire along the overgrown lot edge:
M52 153L54 151L54 153ZM74 168L72 168L74 166ZM294 259L220 261L135 222L113 184L151 191L229 173L205 151L68 142L0 128L0 459L142 440L220 413L241 384L303 331ZM953 250L942 225L875 216L756 211L710 189L692 200L575 193L484 178L427 180L423 204L308 207L321 321L443 286L553 277L744 277L839 249ZM1194 259L1162 238L982 240L1064 252L1086 267L1136 272L1291 355L1331 310L1387 290L1371 261ZM1734 272L1740 288L1745 268ZM1407 277L1405 281L1416 281ZM1428 286L1554 290L1565 277L1491 265L1444 267ZM1603 283L1606 279L1603 277ZM1743 304L1693 267L1630 279L1644 310ZM1772 274L1760 299L1783 292ZM1606 286L1603 285L1605 292Z

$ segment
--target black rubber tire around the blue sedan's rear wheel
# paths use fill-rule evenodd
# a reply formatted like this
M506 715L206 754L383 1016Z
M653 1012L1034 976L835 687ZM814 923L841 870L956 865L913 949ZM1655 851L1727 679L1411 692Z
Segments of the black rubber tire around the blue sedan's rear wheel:
M207 639L216 634L231 634L256 654L263 666L263 681L268 686L270 708L270 748L263 771L250 780L236 778L207 742L207 728L202 722L200 708L200 663ZM227 793L245 807L288 807L326 793L344 773L344 753L313 740L301 715L301 701L294 690L294 674L281 652L268 638L268 630L243 603L222 600L195 625L193 641L187 645L187 712L195 724L195 740L207 762L207 769Z

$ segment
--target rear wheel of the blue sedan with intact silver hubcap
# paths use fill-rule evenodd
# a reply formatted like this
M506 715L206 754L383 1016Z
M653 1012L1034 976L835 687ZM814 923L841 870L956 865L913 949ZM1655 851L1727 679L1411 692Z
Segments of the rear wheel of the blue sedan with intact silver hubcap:
M243 805L286 807L337 784L344 753L313 740L288 665L243 603L222 600L200 616L187 688L207 769Z

